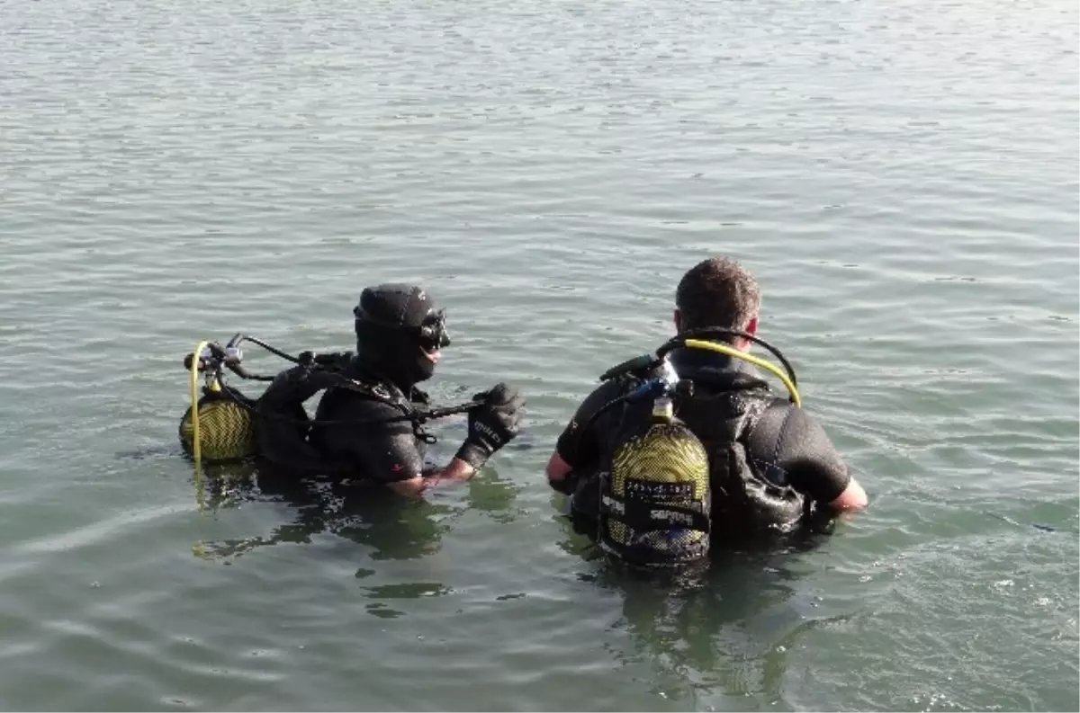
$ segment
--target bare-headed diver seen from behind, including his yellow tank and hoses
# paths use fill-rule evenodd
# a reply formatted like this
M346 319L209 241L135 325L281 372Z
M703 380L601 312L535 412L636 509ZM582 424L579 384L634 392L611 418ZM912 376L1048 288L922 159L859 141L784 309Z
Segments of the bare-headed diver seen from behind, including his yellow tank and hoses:
M796 532L819 512L866 505L824 429L801 408L795 372L757 335L754 277L704 260L676 291L676 335L610 369L548 464L600 547L634 566L707 561L711 548ZM770 352L783 368L750 354ZM778 398L754 367L783 382Z

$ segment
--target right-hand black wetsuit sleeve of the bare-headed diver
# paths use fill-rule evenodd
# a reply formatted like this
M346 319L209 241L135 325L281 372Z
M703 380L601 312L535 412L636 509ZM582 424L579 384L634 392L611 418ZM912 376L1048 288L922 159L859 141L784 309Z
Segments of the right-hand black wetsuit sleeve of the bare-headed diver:
M751 466L778 484L831 503L851 480L836 447L813 417L786 401L775 401L746 439Z

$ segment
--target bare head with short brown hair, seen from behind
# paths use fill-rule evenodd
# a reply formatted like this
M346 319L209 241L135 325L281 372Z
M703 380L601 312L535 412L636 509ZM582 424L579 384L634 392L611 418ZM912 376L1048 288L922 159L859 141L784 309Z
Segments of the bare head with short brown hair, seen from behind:
M745 268L728 258L710 258L679 280L675 305L683 329L742 329L761 308L761 291Z

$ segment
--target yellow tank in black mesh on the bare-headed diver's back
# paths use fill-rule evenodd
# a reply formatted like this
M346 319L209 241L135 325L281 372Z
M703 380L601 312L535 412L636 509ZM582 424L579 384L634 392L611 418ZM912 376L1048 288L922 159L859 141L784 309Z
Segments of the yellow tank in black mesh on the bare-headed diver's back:
M630 564L689 564L708 554L708 454L674 417L666 395L645 415L640 407L626 409L623 423L631 425L600 475L599 543Z

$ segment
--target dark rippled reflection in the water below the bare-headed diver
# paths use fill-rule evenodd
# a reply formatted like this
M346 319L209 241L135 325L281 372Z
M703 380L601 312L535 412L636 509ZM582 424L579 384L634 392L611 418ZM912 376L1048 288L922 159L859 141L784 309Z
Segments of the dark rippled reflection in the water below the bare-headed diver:
M581 579L622 601L612 628L630 634L631 647L611 655L623 666L647 664L653 694L692 700L699 710L726 710L734 701L742 710L752 697L777 711L785 710L787 655L823 618L815 598L798 586L801 556L825 541L833 524L822 518L783 541L714 545L707 565L677 575L610 561L589 521L568 520L562 546L589 563Z

